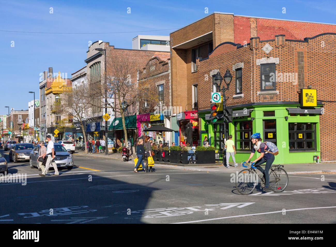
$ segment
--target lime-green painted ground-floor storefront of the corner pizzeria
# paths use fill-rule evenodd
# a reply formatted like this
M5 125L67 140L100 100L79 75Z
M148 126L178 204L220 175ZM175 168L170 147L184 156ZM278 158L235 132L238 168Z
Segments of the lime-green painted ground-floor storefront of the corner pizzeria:
M275 120L275 133L272 135L276 136L276 143L277 147L279 149L279 154L275 156L274 164L292 164L292 163L312 163L313 162L313 155L320 155L320 126L319 126L319 114L289 114L287 107L297 107L298 105L253 105L251 107L246 107L245 109L249 111L250 109L253 109L250 113L250 116L244 116L244 117L234 117L233 121L228 123L228 135L232 135L232 140L235 141L236 135L241 135L241 137L238 137L240 139L244 139L244 144L247 144L247 142L250 142L250 134L242 131L242 133L238 133L235 130L235 126L237 129L240 129L240 125L242 123L238 122L245 122L246 121L252 121L252 133L259 132L261 135L262 140L264 141L264 123L274 122ZM233 110L243 110L243 108L233 108ZM274 111L274 112L272 112ZM274 113L274 116L264 116L267 115L267 113ZM200 112L199 111L199 117L201 119L200 125L201 125L201 135L202 132L206 133L210 136L210 143L211 146L214 146L214 124L209 123L209 120L205 119L205 115L209 114L208 112ZM273 114L271 114L273 115ZM288 117L288 120L285 119L285 116ZM217 123L222 123L223 121L218 121ZM289 128L293 130L293 126L296 129L300 129L303 125L301 123L304 123L304 130L311 128L312 130L307 131L311 133L304 134L305 131L302 131L300 134L300 131L296 131L295 133L291 133L291 137L293 138L293 134L296 136L296 138L299 138L300 135L302 136L308 136L313 135L314 142L306 141L306 146L312 145L312 148L316 150L304 150L304 151L290 151L290 144L291 147L295 146L295 141L289 140ZM217 125L217 129L218 129ZM251 134L252 134L251 133ZM267 132L266 132L267 133ZM247 135L246 135L247 134ZM268 135L269 133L267 133ZM200 138L203 141L203 137L200 135ZM203 134L204 135L204 134ZM216 133L216 137L218 139L219 135L222 135L222 133ZM309 136L310 137L310 136ZM308 138L310 139L310 138ZM301 140L297 139L297 145L301 145ZM239 144L242 142L236 143L236 149L239 148ZM294 143L294 146L293 146ZM218 144L218 142L217 142ZM238 146L238 147L237 147ZM244 145L241 145L242 148L244 148ZM246 147L246 146L245 146ZM297 147L297 146L295 146ZM310 146L309 146L310 147ZM220 149L217 145L216 148ZM294 149L292 149L294 150ZM243 160L247 160L249 155L251 153L250 149L237 151L235 157L236 162L240 163ZM259 154L254 155L253 159L256 159ZM220 155L221 157L221 155ZM232 158L230 157L230 161L233 162Z

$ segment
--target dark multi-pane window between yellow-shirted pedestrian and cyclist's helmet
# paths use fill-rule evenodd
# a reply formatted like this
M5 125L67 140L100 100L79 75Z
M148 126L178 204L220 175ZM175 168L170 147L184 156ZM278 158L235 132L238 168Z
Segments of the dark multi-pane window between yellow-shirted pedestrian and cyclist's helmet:
M242 121L235 123L235 147L238 151L252 150L252 121Z

